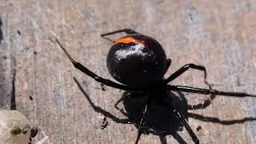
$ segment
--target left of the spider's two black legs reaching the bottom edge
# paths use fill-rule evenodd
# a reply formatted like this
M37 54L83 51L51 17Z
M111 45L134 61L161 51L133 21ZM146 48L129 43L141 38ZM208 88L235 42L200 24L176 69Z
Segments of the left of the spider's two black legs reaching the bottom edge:
M143 112L141 122L139 123L139 126L138 126L138 135L137 135L135 144L138 144L138 140L142 135L142 127L144 126L144 123L146 121L146 116L150 114L151 103L152 103L152 98L150 97L147 99L145 110Z

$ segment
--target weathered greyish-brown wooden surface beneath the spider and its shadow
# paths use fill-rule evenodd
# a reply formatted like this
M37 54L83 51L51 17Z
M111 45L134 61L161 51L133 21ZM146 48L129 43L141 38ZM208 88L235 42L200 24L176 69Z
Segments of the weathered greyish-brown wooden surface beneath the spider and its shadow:
M110 42L100 34L131 28L156 38L172 65L166 76L186 63L206 66L214 89L256 94L256 1L98 1L0 0L0 106L10 107L14 70L17 109L44 130L51 143L134 143L137 129L93 110L74 78L96 106L118 118L114 109L122 91L106 87L75 70L54 42L96 74L110 78L106 54ZM55 36L56 34L57 36ZM207 87L202 73L189 70L172 84ZM209 96L186 94L190 105ZM31 98L33 100L31 100ZM256 118L256 98L217 96L206 109L190 113L220 120ZM256 121L223 125L188 119L202 143L256 143ZM202 129L197 131L198 126ZM167 143L192 140L186 130ZM179 138L180 137L180 138ZM42 138L39 134L37 139ZM178 141L177 141L178 139ZM153 134L140 143L161 143Z

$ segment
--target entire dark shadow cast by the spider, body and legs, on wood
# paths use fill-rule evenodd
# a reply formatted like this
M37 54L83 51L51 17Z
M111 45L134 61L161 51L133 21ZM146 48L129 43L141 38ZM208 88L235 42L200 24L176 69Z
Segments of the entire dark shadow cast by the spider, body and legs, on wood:
M79 90L82 91L82 94L85 95L86 99L90 103L90 106L94 109L95 112L103 114L106 118L112 119L114 122L128 124L132 122L134 126L138 128L140 120L142 118L142 111L145 109L146 105L146 96L143 96L138 93L131 93L125 91L122 96L126 96L123 100L123 107L126 110L127 118L120 119L110 114L110 112L103 110L99 106L95 106L94 102L91 101L86 91L82 89L82 86L78 82L76 78L74 81L77 83ZM206 117L200 114L193 114L188 112L188 110L198 110L205 109L207 106L210 106L210 103L216 98L215 95L211 94L209 99L206 99L203 103L199 103L198 105L188 105L184 94L178 92L174 94L172 92L166 95L166 102L173 106L176 110L179 110L186 120L188 118L198 119L203 122L214 122L222 125L232 125L236 123L243 123L247 121L255 121L256 118L242 118L242 119L234 119L234 120L220 120L218 118ZM178 143L187 143L185 140L178 134L178 131L183 130L182 123L175 118L174 114L170 111L166 106L161 105L158 102L154 102L152 105L152 109L150 111L150 115L147 117L146 126L142 128L144 134L154 134L158 135L162 144L166 144L166 136L172 135L172 137Z

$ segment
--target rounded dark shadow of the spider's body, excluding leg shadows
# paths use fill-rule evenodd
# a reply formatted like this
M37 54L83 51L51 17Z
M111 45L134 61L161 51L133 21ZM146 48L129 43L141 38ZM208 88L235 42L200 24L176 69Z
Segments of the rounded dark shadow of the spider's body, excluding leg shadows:
M123 106L126 115L130 122L138 128L142 119L142 111L146 106L146 95L125 91L122 96L125 97ZM186 102L182 101L177 95L168 93L165 102L179 110L188 119ZM179 143L186 143L177 133L183 130L183 126L174 113L159 102L153 102L151 107L150 115L146 118L146 126L142 129L144 134L158 135L163 144L166 143L167 135L172 135Z

